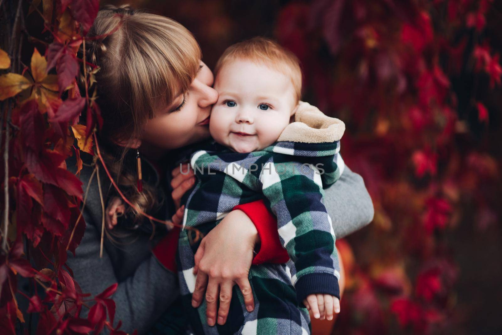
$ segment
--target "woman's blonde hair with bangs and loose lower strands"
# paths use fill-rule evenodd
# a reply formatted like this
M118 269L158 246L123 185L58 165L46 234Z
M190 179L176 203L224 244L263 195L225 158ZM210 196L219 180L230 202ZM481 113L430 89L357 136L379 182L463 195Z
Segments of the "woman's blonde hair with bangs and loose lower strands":
M130 200L149 210L156 192L148 185L138 192L136 166L124 164L124 157L155 110L188 90L199 70L199 45L174 20L128 5L106 6L89 31L86 56L88 62L99 66L96 102L103 127L98 136L108 148L106 163ZM120 147L114 143L124 146L122 152L117 152Z

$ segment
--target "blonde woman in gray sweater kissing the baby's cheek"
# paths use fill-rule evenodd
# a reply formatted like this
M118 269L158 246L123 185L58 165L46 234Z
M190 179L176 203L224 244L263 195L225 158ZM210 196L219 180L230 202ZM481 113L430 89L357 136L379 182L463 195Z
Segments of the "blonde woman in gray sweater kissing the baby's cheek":
M98 13L89 34L109 34L86 45L88 59L100 67L96 74L97 102L103 127L98 138L107 166L135 206L169 219L181 196L194 183L193 176L175 172L179 167L175 168L174 163L183 157L184 149L209 138L207 118L218 97L211 88L213 75L201 61L193 36L165 17L129 7L108 7ZM137 151L142 159L142 192L136 187ZM80 173L84 186L94 169L91 157L86 163ZM74 166L72 162L67 164ZM122 321L122 330L138 329L141 334L178 296L176 273L172 271L176 234L167 234L162 225L152 225L133 213L106 231L100 258L103 208L97 179L105 205L114 190L103 169L99 171L89 184L82 241L76 255L69 254L67 264L82 292L95 295L118 282L112 296L116 302L115 320ZM166 186L169 184L172 189ZM165 196L169 192L172 198ZM337 237L361 228L373 216L362 179L349 169L326 190L326 207ZM264 224L270 222L271 214L263 202L245 204L241 209L230 212L203 239L197 254L199 270L193 304L200 304L202 298L208 301L209 324L215 324L218 316L222 317L218 323L226 321L224 302L231 291L224 290L234 284L253 305L247 271L257 242L261 239L255 262L274 261L274 254L281 251L279 241L272 241L269 234L277 232L276 228ZM217 311L219 298L223 307Z

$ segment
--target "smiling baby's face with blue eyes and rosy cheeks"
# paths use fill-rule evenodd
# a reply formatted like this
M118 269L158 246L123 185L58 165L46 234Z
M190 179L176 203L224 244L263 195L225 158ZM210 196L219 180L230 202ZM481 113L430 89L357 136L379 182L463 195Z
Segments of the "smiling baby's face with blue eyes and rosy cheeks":
M209 132L216 142L240 153L276 142L296 107L291 80L250 61L223 65L214 88L219 98L211 110Z

